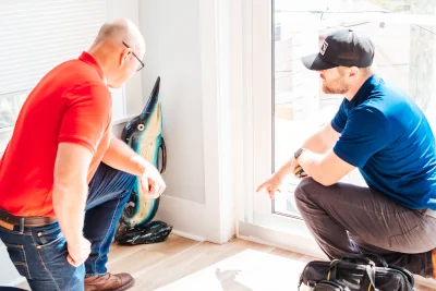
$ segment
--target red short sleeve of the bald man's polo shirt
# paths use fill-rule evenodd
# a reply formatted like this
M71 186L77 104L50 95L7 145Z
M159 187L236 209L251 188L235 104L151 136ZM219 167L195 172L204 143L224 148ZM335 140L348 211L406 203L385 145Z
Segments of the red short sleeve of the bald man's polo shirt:
M101 85L83 85L63 95L65 109L58 143L74 143L94 155L110 125L112 100Z

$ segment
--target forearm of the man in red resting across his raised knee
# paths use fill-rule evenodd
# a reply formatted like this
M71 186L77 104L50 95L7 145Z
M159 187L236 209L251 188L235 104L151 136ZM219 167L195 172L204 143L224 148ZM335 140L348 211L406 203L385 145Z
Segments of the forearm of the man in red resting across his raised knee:
M134 175L141 175L148 163L144 158L133 151L129 145L114 136L112 136L110 141L110 145L102 157L102 161L114 169Z

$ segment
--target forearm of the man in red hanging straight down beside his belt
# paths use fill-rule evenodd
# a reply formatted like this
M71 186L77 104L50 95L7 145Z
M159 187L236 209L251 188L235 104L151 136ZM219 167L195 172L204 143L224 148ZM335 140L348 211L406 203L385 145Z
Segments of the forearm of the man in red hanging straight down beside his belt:
M83 237L85 205L88 187L86 182L53 186L53 209L66 242L76 243Z

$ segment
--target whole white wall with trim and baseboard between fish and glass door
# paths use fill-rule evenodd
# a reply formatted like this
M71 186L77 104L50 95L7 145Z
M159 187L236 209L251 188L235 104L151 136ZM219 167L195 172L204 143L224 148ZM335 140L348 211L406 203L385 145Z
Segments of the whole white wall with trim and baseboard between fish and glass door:
M147 43L143 93L148 97L161 77L168 148L168 187L156 219L178 234L216 243L234 234L229 11L237 2L140 1Z

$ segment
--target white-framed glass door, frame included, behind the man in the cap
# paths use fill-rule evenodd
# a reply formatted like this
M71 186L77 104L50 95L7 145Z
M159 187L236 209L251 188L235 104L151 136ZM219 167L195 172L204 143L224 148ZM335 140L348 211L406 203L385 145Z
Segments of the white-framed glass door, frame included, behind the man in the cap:
M428 1L410 4L400 0L253 1L255 184L265 181L305 137L330 122L336 113L343 97L325 95L318 74L300 61L302 56L318 51L325 36L336 29L353 28L367 34L376 46L376 72L407 90L436 129L436 119L429 113L436 110L436 17L429 14L435 8ZM365 184L358 170L344 180ZM245 221L306 235L294 205L296 184L289 177L286 191L272 202L267 195L252 194L252 209L245 208L252 220Z

